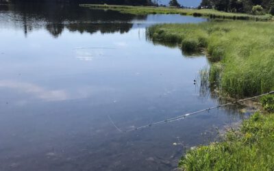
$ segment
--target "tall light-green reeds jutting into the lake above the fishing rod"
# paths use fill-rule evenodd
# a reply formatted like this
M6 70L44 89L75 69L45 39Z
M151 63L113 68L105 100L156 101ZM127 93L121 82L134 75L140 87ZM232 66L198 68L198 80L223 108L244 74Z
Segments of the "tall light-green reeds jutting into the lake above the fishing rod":
M152 40L179 44L186 53L206 50L210 88L229 96L274 90L274 24L224 21L155 25Z

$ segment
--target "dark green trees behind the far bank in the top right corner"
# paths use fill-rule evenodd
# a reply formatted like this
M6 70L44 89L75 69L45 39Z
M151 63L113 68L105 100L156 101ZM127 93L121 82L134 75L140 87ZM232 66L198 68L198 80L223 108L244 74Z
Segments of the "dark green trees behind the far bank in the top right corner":
M274 14L274 0L202 0L199 8L213 8L225 12Z

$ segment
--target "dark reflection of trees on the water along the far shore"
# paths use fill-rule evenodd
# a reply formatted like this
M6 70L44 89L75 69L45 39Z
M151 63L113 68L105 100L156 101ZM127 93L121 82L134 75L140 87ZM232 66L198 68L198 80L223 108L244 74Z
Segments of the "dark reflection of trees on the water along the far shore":
M89 10L80 8L78 5L62 3L15 3L9 5L8 9L12 11L12 21L16 25L21 23L19 27L26 35L33 29L44 27L54 37L62 34L64 28L80 33L92 34L101 31L101 33L120 32L123 34L132 28L132 20L146 17L121 14L110 10Z

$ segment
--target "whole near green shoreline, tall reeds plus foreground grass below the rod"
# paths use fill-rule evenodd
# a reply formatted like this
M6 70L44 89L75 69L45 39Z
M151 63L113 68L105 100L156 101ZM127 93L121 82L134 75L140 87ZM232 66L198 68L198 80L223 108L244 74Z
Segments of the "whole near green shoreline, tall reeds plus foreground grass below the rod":
M212 61L210 70L204 72L209 88L238 98L274 90L262 86L274 83L274 51L269 39L273 27L273 23L239 21L164 24L149 27L148 35L152 41L177 44L190 53L206 49ZM257 105L262 109L238 128L225 130L220 142L190 148L179 161L179 169L273 170L274 94L263 96Z

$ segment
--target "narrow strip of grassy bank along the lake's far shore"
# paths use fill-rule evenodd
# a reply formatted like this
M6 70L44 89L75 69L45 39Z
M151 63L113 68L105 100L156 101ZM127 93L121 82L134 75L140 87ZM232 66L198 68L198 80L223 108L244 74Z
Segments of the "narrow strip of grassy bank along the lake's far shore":
M145 7L145 6L127 6L127 5L97 5L81 4L80 6L93 9L114 10L127 14L182 14L192 16L206 16L210 18L229 18L235 20L256 20L269 21L272 16L262 15L254 16L250 14L238 14L229 12L219 12L216 10L190 10L182 8L162 8L162 7Z

